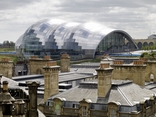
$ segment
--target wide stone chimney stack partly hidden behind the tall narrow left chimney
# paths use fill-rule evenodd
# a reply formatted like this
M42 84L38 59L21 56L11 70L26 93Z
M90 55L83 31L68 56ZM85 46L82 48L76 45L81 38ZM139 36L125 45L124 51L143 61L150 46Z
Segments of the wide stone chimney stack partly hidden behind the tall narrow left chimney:
M43 74L42 67L49 61L52 61L50 56L44 56L43 59L38 58L38 56L31 56L28 62L29 74Z

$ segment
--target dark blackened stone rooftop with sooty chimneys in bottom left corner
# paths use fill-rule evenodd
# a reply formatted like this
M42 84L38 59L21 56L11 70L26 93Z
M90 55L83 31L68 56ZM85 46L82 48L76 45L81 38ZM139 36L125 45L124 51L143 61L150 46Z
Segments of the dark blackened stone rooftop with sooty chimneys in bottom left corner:
M27 92L18 82L0 76L0 117L45 117L37 109L38 82L28 81Z

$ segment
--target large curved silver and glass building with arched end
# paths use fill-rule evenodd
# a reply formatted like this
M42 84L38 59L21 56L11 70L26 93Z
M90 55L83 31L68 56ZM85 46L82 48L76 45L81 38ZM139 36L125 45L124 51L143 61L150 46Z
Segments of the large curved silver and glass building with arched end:
M125 44L125 40L129 43ZM80 24L58 19L33 24L15 46L16 52L26 58L50 55L52 59L59 59L62 53L68 53L71 59L83 59L138 49L125 31L93 22Z

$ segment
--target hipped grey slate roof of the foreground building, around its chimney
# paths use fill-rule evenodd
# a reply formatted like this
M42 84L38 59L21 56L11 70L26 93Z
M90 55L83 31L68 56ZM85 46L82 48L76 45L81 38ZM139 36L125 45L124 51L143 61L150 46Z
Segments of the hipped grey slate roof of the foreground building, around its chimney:
M150 98L153 91L141 87L133 82L127 80L113 80L111 90L105 98L98 98L97 96L97 82L85 82L79 86L72 88L66 92L60 93L49 99L60 97L65 98L66 101L79 102L82 99L90 99L92 103L107 104L115 101L121 105L134 106L136 102Z

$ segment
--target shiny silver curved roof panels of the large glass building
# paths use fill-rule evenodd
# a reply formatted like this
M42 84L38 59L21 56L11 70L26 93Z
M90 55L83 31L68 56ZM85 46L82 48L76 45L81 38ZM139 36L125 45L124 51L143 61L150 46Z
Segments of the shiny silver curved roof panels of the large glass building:
M60 19L42 20L30 26L16 41L16 46L20 46L21 43L31 41L34 37L37 37L42 45L45 45L48 40L53 38L57 42L57 49L66 49L63 44L67 41L77 42L82 49L95 49L107 34L115 31L124 33L130 38L129 41L133 41L122 30L115 30L94 22L80 24ZM90 44L86 44L88 41Z

